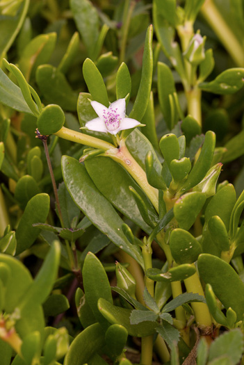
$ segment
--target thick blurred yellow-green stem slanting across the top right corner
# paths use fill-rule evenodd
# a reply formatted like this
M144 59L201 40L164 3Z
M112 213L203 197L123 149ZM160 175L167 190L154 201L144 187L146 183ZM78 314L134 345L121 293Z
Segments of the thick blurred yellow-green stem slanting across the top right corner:
M231 58L239 67L244 66L244 48L243 45L236 39L236 36L231 31L231 28L222 18L218 8L213 3L213 0L206 0L202 6L202 14L211 28L218 35L220 41L229 52Z

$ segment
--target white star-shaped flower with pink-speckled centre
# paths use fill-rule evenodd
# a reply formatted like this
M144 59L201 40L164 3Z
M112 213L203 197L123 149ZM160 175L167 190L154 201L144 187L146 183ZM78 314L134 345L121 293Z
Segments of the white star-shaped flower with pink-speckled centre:
M111 133L116 135L123 129L138 127L138 120L125 116L125 99L118 99L108 108L99 102L90 102L98 117L86 123L90 131Z

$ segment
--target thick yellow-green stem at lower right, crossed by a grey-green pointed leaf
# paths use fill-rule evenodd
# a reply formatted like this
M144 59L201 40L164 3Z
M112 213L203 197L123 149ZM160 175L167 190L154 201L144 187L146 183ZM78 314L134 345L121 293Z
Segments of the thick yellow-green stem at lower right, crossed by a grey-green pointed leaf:
M188 279L185 279L184 283L188 293L198 293L204 296L202 284L197 273L188 277ZM207 330L208 327L211 327L212 320L208 306L205 303L199 302L193 302L191 303L191 306L193 307L197 326L200 327L202 330Z

